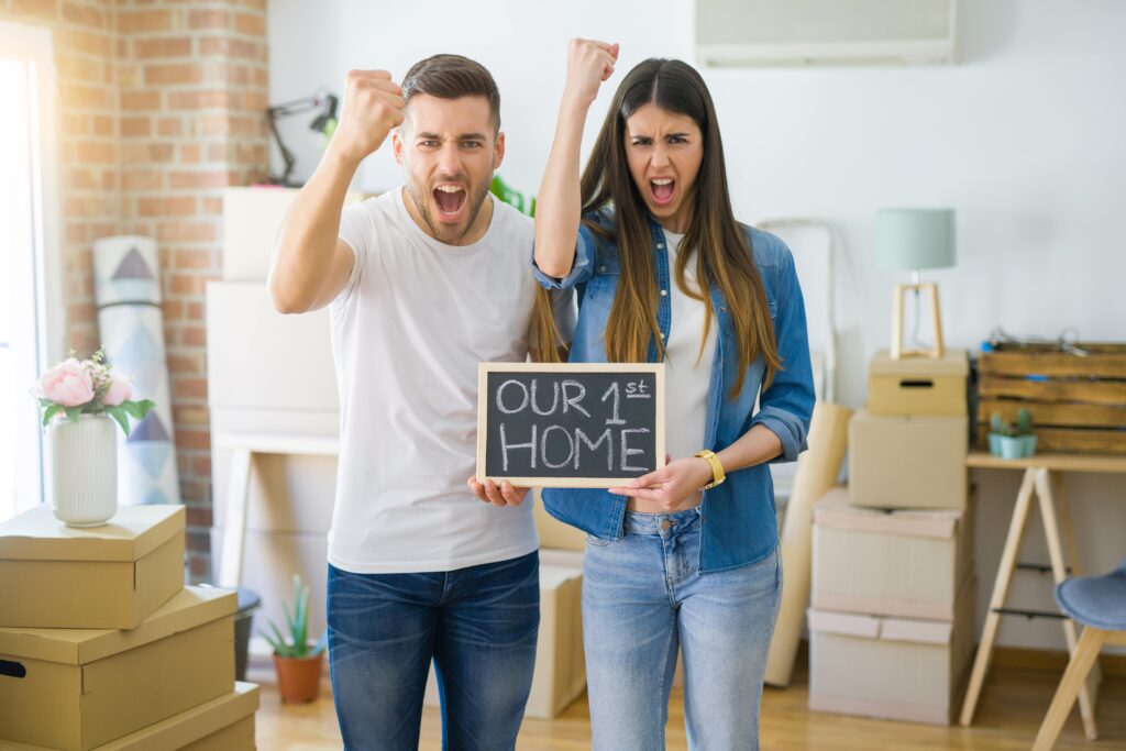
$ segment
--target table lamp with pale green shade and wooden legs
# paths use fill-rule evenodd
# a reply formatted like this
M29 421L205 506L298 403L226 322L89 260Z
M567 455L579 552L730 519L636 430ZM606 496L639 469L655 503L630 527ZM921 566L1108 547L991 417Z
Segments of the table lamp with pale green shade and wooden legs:
M954 266L953 208L883 208L876 212L876 263L890 271L911 271L911 284L897 284L892 294L892 358L942 357L942 321L938 306L938 285L921 284L921 269ZM903 345L903 295L914 293L915 336L913 349ZM930 292L933 318L933 345L918 348L919 296Z

